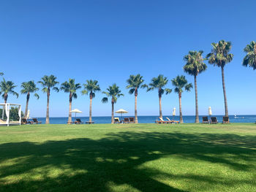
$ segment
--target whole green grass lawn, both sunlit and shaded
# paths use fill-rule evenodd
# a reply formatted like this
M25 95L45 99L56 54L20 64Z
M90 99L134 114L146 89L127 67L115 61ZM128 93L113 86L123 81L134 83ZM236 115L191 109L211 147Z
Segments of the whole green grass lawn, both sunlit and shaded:
M256 191L256 125L0 127L0 191Z

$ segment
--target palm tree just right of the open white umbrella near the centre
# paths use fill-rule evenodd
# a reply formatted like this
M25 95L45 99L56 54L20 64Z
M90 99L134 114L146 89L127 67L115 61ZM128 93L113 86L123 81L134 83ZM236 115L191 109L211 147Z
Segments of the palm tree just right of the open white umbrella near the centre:
M146 88L146 85L142 85L144 82L143 76L140 74L129 76L129 80L127 80L127 88L129 88L130 94L135 94L135 123L138 123L138 112L137 112L137 97L138 97L138 89Z

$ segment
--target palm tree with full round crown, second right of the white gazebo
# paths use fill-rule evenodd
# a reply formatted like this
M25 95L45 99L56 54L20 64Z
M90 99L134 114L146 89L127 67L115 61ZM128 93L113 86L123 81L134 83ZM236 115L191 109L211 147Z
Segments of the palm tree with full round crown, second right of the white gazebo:
M42 92L47 94L47 109L46 109L46 120L45 124L49 124L49 101L50 101L50 89L52 88L54 91L59 92L59 88L56 87L57 84L59 84L58 81L56 81L57 77L55 77L53 74L50 76L45 75L42 77L42 79L38 82L42 85Z

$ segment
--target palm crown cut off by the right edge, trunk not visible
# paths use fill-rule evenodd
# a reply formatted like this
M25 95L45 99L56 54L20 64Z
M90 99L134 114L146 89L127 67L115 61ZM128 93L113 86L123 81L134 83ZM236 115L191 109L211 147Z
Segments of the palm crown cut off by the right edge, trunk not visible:
M244 48L246 56L243 60L243 66L250 66L253 70L256 69L256 42L252 41Z

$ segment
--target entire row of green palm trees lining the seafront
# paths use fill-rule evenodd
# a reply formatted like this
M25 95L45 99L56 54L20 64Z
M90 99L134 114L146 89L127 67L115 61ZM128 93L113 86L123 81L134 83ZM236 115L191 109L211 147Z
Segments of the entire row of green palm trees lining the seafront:
M224 101L225 101L225 116L228 116L228 110L227 110L227 95L226 95L226 89L225 89L225 74L224 74L224 68L225 65L230 63L230 61L233 60L233 54L230 53L231 50L231 42L225 42L225 40L221 40L217 43L211 44L212 49L211 53L208 53L206 55L206 58L203 58L203 51L189 51L187 55L184 56L184 61L186 64L184 65L184 72L187 74L190 74L194 76L194 87L195 87L195 123L199 123L199 115L198 115L198 101L197 101L197 75L201 72L206 71L207 65L204 63L204 61L208 60L208 64L213 64L214 66L219 66L222 69L222 88L223 88L223 95L224 95ZM256 69L256 43L254 41L250 42L249 45L246 45L244 48L244 52L246 53L246 56L243 60L243 66L250 66L253 69ZM0 75L3 75L3 73L0 72ZM58 81L56 81L56 77L54 75L47 76L45 75L42 77L42 79L38 82L40 85L42 85L42 92L47 94L47 110L46 110L46 121L45 123L50 123L49 121L49 101L50 101L50 91L57 91L59 92L59 89L61 91L64 91L65 93L69 93L69 119L68 121L71 122L71 109L72 109L72 99L76 99L78 89L82 88L80 83L75 83L74 79L69 79L66 82L63 82L61 84L61 87L58 88L57 85L59 84ZM138 89L139 88L146 88L147 91L153 91L154 89L157 89L158 96L159 96L159 117L162 118L162 95L164 93L169 94L172 92L172 89L165 88L167 85L167 77L164 77L162 74L159 74L158 77L152 78L151 82L147 85L143 83L143 76L140 74L137 75L130 75L129 79L127 80L127 88L129 89L130 94L135 95L135 123L138 123L138 112L137 112L137 98L138 98ZM192 83L187 82L187 79L184 75L178 75L176 78L173 78L171 80L174 88L174 91L178 93L178 101L179 101L179 114L180 114L180 122L183 123L182 118L182 110L181 110L181 94L184 91L191 91L193 88ZM6 81L2 80L0 82L0 94L2 94L2 97L4 98L4 102L7 102L8 93L11 93L12 95L15 95L18 97L18 93L16 93L13 89L16 87L12 81ZM83 91L82 94L89 94L90 99L90 109L89 109L89 121L91 121L91 105L92 105L92 99L95 97L95 93L97 91L100 91L98 81L97 80L86 80L86 83L83 84ZM39 88L37 88L37 85L34 83L34 81L29 82L23 82L21 84L21 91L20 93L26 94L26 110L25 110L25 116L28 112L28 106L29 106L29 98L30 94L34 93L34 96L39 99L39 95L36 93L39 91ZM112 112L111 112L111 123L114 122L114 104L116 103L117 99L120 96L124 96L123 93L121 93L120 88L114 83L113 85L110 85L106 91L103 91L102 93L105 94L105 97L102 99L103 103L108 102L108 98L111 99L111 106L112 106Z

